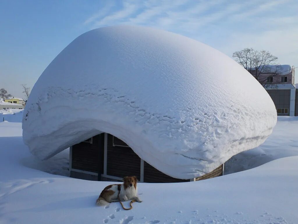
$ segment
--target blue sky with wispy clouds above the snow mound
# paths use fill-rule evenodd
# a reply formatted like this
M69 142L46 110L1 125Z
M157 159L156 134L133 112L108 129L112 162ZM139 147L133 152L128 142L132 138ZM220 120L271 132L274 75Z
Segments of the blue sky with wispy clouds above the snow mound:
M77 36L116 24L179 33L230 57L264 49L298 66L297 12L297 0L0 1L0 88L23 97L20 85L33 87Z

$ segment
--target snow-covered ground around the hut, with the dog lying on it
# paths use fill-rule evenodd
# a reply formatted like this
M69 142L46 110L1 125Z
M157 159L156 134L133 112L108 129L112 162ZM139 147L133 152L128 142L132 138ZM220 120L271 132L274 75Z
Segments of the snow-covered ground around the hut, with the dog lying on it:
M298 119L278 117L272 136L231 162L257 165L264 157L298 155ZM271 149L271 150L270 150ZM266 154L262 157L258 153ZM59 170L58 154L52 158ZM248 152L247 152L248 153ZM243 153L242 153L243 154ZM260 159L262 158L262 159ZM238 162L237 162L238 161ZM250 162L247 162L250 161ZM0 122L0 223L298 223L298 157L286 157L262 166L198 182L139 183L142 203L124 211L119 203L95 206L110 182L73 179L32 169L38 164L22 141L21 123ZM64 165L63 165L64 164ZM66 167L67 161L61 162ZM40 168L42 165L37 165ZM44 161L45 167L51 167ZM245 168L245 167L244 167ZM128 207L128 202L125 203Z

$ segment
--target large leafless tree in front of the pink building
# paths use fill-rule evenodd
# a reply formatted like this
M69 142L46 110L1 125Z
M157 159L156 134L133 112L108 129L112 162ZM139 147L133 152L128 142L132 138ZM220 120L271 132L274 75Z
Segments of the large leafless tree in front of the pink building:
M243 50L235 51L233 58L249 71L264 88L276 85L274 82L267 82L268 77L280 76L282 72L282 67L276 64L278 58L266 50L258 51L253 48L244 48ZM264 76L264 73L267 75Z

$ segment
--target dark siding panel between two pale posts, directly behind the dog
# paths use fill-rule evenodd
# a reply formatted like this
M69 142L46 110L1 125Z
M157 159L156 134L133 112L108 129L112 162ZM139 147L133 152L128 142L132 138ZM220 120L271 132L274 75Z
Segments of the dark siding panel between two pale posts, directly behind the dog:
M140 157L131 148L113 146L113 136L108 134L107 174L114 177L136 176L140 179L140 170Z

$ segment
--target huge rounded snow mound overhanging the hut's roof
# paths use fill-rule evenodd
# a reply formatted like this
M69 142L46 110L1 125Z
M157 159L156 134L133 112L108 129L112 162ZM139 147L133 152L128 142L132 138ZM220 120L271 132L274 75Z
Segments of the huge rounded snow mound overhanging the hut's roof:
M115 26L84 33L50 63L22 127L41 159L107 132L189 179L263 143L276 120L266 90L228 56L174 33Z

